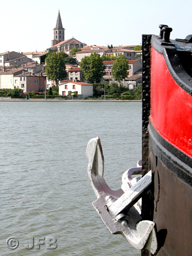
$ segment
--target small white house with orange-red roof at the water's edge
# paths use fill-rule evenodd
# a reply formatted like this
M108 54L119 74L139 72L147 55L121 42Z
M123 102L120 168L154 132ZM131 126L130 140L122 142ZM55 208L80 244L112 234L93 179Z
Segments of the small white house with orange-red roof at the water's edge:
M92 96L93 85L86 82L65 82L58 85L59 95L70 95L75 93L81 95L82 97Z

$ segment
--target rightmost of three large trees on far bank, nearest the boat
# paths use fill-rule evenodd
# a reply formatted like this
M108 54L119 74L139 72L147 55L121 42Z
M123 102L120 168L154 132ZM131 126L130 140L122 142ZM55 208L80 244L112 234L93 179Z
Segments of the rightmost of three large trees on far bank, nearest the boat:
M120 85L120 81L124 79L127 76L127 70L128 70L128 59L125 58L124 55L119 55L116 58L116 61L112 65L112 76L116 81L118 81Z

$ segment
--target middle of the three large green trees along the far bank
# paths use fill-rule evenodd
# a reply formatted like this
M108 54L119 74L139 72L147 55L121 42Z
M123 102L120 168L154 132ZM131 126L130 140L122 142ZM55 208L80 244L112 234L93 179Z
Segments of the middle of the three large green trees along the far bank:
M96 52L91 53L90 56L83 57L79 65L86 81L99 82L105 74L105 65L102 63L100 55Z

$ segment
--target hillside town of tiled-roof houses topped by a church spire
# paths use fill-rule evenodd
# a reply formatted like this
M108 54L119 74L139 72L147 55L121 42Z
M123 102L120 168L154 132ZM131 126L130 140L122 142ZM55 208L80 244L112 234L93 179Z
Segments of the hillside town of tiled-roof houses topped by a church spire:
M129 90L141 83L142 50L140 45L88 46L74 37L65 39L64 30L58 11L49 48L43 52L7 51L0 53L0 96L5 93L6 89L20 89L23 95L28 92L52 95L51 90L57 87L54 95L75 94L78 98L85 98L93 96L95 82L106 83L108 87L118 83ZM64 70L60 77L57 74L51 74L53 71L51 63L55 61L50 57L52 53L57 57L64 57ZM86 76L87 67L84 63L88 57L99 58L98 61L101 61L100 76L94 77L94 74L92 77ZM114 71L120 59L125 60L125 74L115 76ZM92 61L94 62L94 59ZM95 61L95 63L98 62Z

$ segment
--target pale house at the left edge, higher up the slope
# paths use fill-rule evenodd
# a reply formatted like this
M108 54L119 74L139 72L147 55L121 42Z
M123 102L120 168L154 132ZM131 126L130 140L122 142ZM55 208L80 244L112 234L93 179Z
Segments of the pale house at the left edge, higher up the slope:
M9 62L8 62L10 60L16 60L16 62L13 61L12 64L19 66L19 61L17 62L17 59L21 58L23 56L24 55L22 54L22 52L19 53L19 52L16 52L16 51L6 51L4 53L0 53L0 66L10 65ZM31 61L31 59L29 61ZM26 61L26 59L25 59L25 62L29 62L29 61ZM21 65L21 63L20 63L20 65Z

